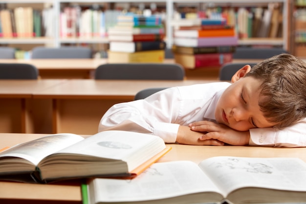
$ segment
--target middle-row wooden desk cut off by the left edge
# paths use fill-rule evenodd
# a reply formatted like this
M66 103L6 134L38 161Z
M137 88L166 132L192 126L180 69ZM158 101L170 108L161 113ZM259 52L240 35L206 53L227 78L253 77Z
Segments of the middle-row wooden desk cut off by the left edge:
M32 116L43 112L45 118L51 112L41 109L44 100L33 101L35 91L59 85L66 80L0 80L0 132L2 133L33 133ZM42 124L36 124L41 126Z

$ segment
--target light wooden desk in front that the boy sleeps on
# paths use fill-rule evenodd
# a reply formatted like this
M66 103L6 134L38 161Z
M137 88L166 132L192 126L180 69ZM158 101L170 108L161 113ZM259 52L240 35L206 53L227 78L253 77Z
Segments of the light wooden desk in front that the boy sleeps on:
M29 141L42 134L0 134L0 149ZM86 136L85 136L86 137ZM275 148L251 146L193 146L168 144L172 150L158 162L191 160L199 163L216 156L237 157L297 157L306 161L306 148ZM80 185L29 184L0 181L0 203L18 204L82 204Z

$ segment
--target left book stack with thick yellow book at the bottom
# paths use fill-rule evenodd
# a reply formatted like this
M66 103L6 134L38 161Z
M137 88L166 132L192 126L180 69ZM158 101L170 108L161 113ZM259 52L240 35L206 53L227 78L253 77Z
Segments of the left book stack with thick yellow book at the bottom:
M110 27L109 63L161 63L165 58L164 27L159 16L119 15Z

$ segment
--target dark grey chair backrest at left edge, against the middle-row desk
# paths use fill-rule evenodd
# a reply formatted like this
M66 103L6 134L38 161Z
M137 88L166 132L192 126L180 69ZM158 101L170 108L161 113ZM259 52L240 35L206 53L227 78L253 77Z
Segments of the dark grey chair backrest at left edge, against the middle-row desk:
M0 79L38 79L39 70L30 64L0 63Z

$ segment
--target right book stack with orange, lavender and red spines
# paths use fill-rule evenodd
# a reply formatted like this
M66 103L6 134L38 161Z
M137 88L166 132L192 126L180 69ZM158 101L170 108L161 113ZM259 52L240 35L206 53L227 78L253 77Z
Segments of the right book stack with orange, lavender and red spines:
M184 68L219 67L232 61L237 45L235 28L224 18L202 19L199 29L174 31L172 51Z

